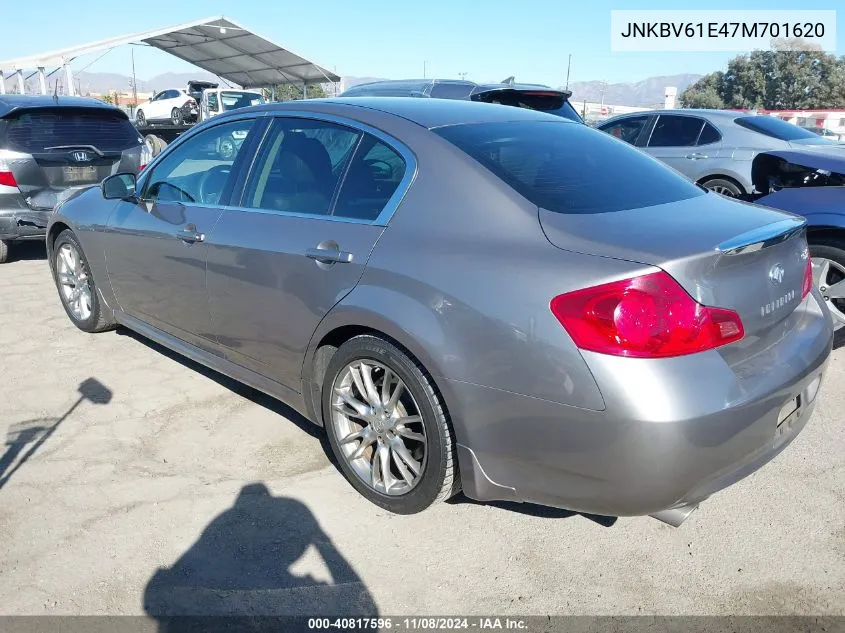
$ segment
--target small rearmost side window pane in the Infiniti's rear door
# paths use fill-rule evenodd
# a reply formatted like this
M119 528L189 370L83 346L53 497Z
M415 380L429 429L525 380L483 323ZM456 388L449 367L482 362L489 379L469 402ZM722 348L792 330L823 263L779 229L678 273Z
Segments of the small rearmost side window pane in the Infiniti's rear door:
M389 145L365 134L343 181L333 215L375 221L405 175L405 160Z

